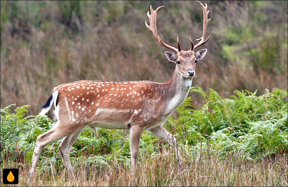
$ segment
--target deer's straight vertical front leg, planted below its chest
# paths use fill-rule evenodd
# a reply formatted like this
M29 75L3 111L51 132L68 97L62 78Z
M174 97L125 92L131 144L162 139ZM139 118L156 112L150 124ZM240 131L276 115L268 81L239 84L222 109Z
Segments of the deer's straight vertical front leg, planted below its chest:
M132 171L137 168L137 156L139 151L140 137L143 129L136 125L131 125L130 128L130 152L132 160Z

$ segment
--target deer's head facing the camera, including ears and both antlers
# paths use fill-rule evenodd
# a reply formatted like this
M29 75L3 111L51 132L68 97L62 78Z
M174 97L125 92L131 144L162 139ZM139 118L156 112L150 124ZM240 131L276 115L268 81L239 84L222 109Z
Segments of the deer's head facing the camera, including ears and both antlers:
M199 1L197 1L202 9L203 9L203 17L204 17L204 21L203 21L203 35L201 38L196 39L197 41L199 41L198 44L196 44L194 46L191 38L190 38L190 42L192 47L190 48L190 50L184 51L180 49L180 44L179 44L179 39L177 37L177 44L178 44L178 49L173 47L173 46L169 46L167 44L165 44L159 37L158 33L157 33L157 28L156 28L156 18L157 18L157 13L158 11L163 8L164 6L158 7L156 10L152 9L152 5L150 6L150 10L151 10L151 14L149 15L149 11L147 12L147 16L149 18L149 23L150 26L148 26L146 20L145 20L145 24L146 27L153 33L154 37L156 38L156 40L162 44L164 47L170 49L170 50L174 50L175 52L177 52L177 54L173 53L173 52L169 52L166 51L165 52L165 56L167 57L168 61L170 62L174 62L176 64L176 71L182 75L184 78L192 78L193 76L196 75L195 73L195 68L196 68L196 62L200 61L205 54L207 53L207 49L201 49L199 51L197 51L196 53L194 52L194 49L198 48L199 46L205 44L209 38L211 37L211 35L205 40L205 33L206 33L206 28L208 25L208 22L210 19L208 19L208 14L209 14L209 10L207 11L207 4L205 3L205 6L200 3Z

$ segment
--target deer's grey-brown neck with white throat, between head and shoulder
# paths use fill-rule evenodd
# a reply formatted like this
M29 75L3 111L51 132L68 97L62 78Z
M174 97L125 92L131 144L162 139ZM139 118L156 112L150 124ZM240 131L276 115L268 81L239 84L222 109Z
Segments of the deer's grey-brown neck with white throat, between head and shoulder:
M184 78L175 69L172 79L165 83L162 90L162 99L166 108L164 114L171 114L186 99L191 88L192 78Z

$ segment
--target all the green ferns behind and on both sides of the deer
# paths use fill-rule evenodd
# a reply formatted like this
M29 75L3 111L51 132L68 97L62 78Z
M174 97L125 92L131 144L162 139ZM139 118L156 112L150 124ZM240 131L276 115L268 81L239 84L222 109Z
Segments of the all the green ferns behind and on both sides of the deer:
M170 117L165 124L178 137L185 150L183 155L202 148L211 148L211 153L223 158L238 154L248 160L287 153L287 91L266 90L264 95L256 96L257 90L236 90L230 99L223 99L213 89L204 92L199 86L190 91L200 94L205 104L192 109L191 97L187 97L177 108L178 118ZM29 105L10 113L13 106L1 109L1 162L9 159L22 165L26 159L31 161L37 136L51 129L53 122L47 116L25 117ZM72 163L98 167L116 158L128 166L129 138L121 135L120 130L98 128L96 135L90 128L84 129L71 150ZM42 172L49 170L50 162L56 170L63 169L60 142L51 143L43 150L39 160ZM168 146L151 133L143 132L140 150L144 155L159 157L159 150Z

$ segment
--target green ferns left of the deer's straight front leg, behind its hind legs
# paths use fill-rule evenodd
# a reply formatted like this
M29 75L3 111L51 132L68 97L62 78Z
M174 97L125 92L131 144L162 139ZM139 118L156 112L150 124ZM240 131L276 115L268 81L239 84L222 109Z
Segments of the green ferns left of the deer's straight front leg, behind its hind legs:
M1 109L1 162L7 159L22 165L25 159L32 160L33 150L37 136L47 132L53 126L52 120L47 116L27 116L24 117L29 105L18 107L15 113L10 113L14 105L9 105ZM128 165L129 146L124 146L125 137L118 135L116 130L98 129L98 137L91 129L84 129L71 150L71 160L76 165L85 161L87 166L107 165L107 159L112 156L108 153L119 152L124 147L120 155L115 154ZM53 142L44 148L39 166L42 172L51 166L56 170L63 169L62 157L58 150L61 140ZM48 167L48 168L47 168Z

